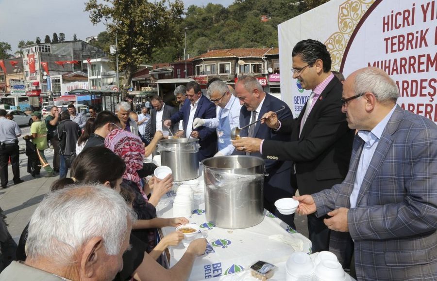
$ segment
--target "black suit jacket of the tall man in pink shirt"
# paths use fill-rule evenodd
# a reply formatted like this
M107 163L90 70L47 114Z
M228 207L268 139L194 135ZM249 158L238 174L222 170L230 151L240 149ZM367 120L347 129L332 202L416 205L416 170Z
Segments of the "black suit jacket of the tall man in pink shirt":
M312 194L341 183L351 157L354 130L341 112L343 84L332 78L308 114L299 136L305 105L298 118L281 120L278 134L291 134L291 141L263 142L263 157L293 160L299 193Z

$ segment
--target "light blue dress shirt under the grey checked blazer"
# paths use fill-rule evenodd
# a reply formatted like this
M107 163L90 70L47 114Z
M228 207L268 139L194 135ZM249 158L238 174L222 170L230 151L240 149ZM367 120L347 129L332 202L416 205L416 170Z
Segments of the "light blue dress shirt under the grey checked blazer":
M358 168L356 170L355 182L353 183L353 190L351 193L351 208L356 207L356 201L358 199L358 194L360 192L361 184L363 183L364 176L366 175L367 169L369 168L370 161L372 160L373 154L375 153L376 147L378 146L379 139L386 127L388 120L390 120L394 109L388 112L387 116L384 117L381 122L378 123L370 132L369 131L358 131L358 137L364 141L363 151L361 152L360 161L358 163Z

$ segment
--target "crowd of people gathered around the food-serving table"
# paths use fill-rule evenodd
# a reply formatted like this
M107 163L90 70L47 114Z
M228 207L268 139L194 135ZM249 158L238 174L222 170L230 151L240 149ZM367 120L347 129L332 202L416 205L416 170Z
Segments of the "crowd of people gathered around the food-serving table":
M206 95L197 82L188 82L174 91L179 108L152 96L135 110L128 102L118 103L115 114L93 108L88 120L74 106L61 113L54 106L45 122L34 112L26 138L34 142L47 176L59 172L60 179L21 236L17 257L25 262L12 263L0 280L29 274L41 276L38 280L186 279L206 241L192 242L169 270L159 265L161 253L179 244L183 234L159 240L157 229L188 220L156 217L173 181L171 175L156 179L156 166L144 163L158 141L168 138L166 132L199 140L201 161L263 158L264 207L295 228L294 215L280 214L274 203L298 200L312 251L334 252L358 280L435 280L436 124L396 105L399 89L383 70L366 67L346 79L331 71L331 55L319 41L297 43L292 63L293 78L311 90L297 118L251 76L238 78L235 89L210 81ZM0 176L6 187L6 157L14 183L21 181L16 160L21 131L3 111ZM231 138L233 128L259 119ZM53 168L44 156L47 140L55 149ZM132 249L124 252L128 244ZM101 266L111 270L101 272Z

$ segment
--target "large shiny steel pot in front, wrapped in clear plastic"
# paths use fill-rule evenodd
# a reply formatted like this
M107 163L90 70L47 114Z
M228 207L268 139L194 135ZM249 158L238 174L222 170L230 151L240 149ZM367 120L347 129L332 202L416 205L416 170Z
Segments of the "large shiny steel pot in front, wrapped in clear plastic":
M247 228L264 219L264 160L221 156L202 161L206 219L221 228Z

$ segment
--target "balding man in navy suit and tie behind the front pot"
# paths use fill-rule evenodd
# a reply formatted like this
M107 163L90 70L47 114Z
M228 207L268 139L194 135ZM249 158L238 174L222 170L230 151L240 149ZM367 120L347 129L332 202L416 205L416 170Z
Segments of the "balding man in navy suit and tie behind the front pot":
M258 80L251 76L244 76L238 79L235 85L235 97L243 105L240 110L240 127L249 125L261 118L266 112L276 111L282 107L285 107L285 109L278 112L280 118L292 118L291 110L286 103L270 94L266 94ZM262 125L259 122L241 130L240 137L248 136L265 140L290 140L289 136L278 135L270 130L267 125ZM244 155L246 153L235 152L234 154ZM250 155L262 157L259 152L253 152ZM265 160L265 165L266 172L269 175L264 178L264 208L285 221L292 228L296 228L293 221L294 215L282 215L274 205L276 200L292 197L296 192L296 189L291 186L290 182L292 162L269 158Z

